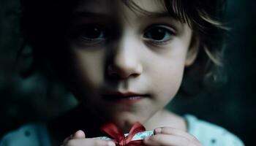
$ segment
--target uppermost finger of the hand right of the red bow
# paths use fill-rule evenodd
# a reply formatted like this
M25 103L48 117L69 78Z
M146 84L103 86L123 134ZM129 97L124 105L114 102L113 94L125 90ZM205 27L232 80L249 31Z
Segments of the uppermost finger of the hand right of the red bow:
M196 137L194 137L193 135L188 134L186 131L182 131L178 128L172 128L172 127L155 128L154 134L176 135L176 136L180 136L180 137L186 137L187 139L189 139L191 141L199 142Z

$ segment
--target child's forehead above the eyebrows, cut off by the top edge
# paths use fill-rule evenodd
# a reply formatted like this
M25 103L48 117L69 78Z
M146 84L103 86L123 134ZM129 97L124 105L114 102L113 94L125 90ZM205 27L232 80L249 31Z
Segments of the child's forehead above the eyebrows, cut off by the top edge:
M78 6L75 8L75 12L86 11L118 15L122 12L131 11L131 9L129 9L125 4L126 1L127 0L80 0ZM133 0L132 2L146 12L167 12L163 0Z

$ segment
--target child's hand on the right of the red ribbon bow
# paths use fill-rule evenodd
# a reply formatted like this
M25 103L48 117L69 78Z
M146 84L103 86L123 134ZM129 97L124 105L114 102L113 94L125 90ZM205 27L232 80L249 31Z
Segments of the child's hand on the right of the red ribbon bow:
M154 129L154 135L144 139L143 143L146 146L201 146L191 134L170 127Z

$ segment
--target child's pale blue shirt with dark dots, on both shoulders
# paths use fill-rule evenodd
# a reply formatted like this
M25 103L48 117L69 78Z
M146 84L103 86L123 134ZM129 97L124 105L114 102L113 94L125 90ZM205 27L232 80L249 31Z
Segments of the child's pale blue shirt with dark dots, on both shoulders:
M193 115L185 115L188 132L194 135L203 146L244 146L238 137L225 128L216 126ZM46 123L30 123L6 134L0 146L50 146Z

